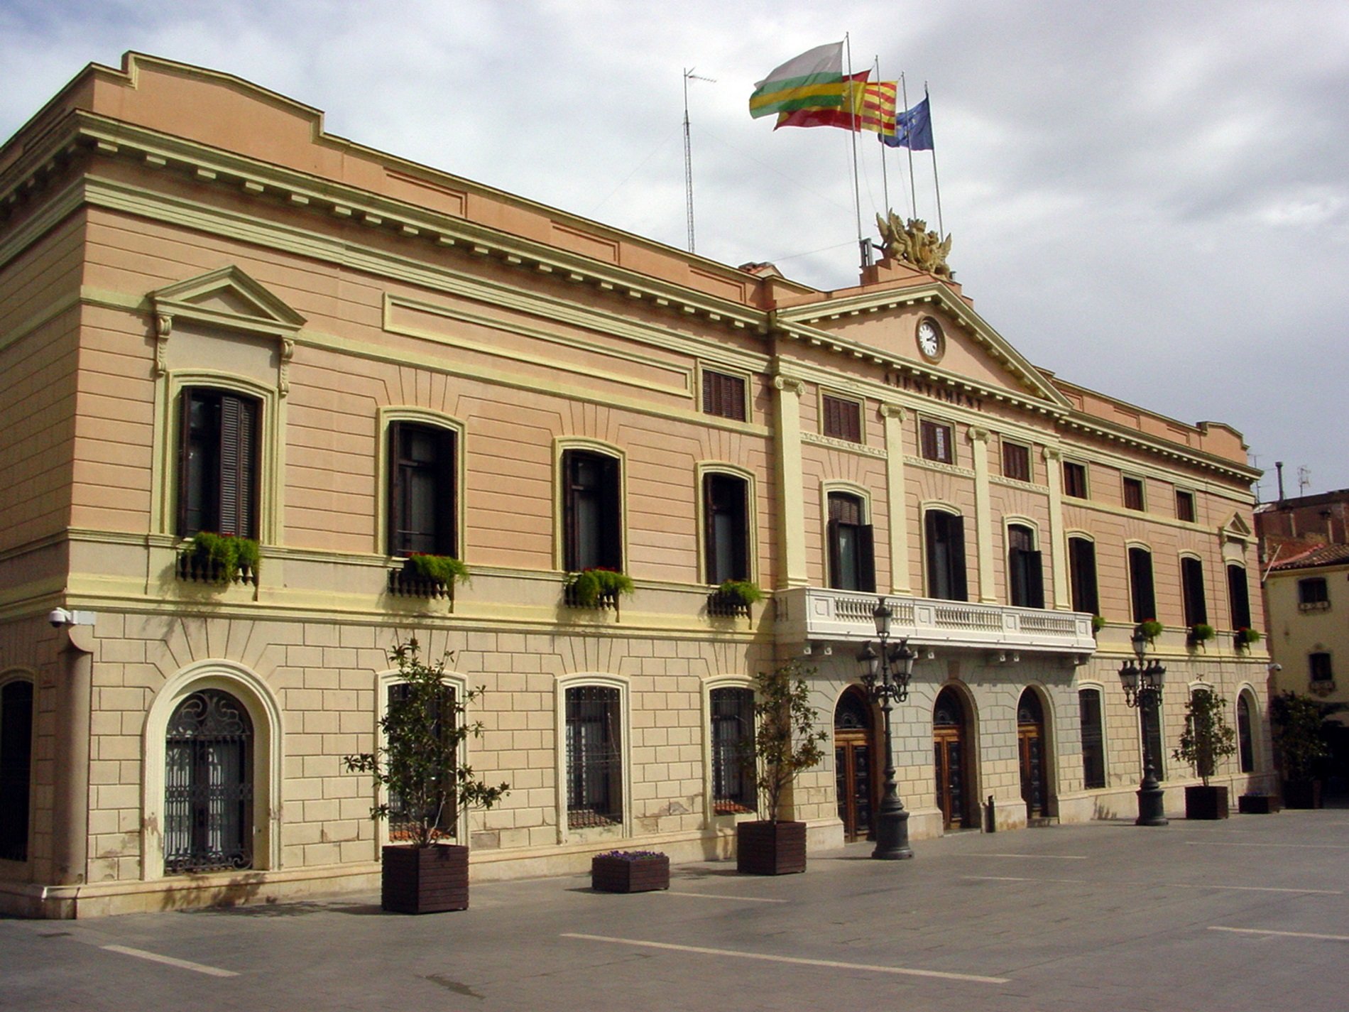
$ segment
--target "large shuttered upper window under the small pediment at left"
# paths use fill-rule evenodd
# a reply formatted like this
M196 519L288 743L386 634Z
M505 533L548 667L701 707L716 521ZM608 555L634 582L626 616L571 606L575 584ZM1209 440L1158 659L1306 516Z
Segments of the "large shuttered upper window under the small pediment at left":
M183 387L178 533L258 537L258 401Z

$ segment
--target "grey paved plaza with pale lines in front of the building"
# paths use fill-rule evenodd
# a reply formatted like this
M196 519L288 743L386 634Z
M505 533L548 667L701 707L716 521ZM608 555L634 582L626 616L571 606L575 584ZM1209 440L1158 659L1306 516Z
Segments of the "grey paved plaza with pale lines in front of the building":
M0 1008L1222 1009L1349 1007L1349 810L965 833L804 876L679 865L80 922L0 920Z

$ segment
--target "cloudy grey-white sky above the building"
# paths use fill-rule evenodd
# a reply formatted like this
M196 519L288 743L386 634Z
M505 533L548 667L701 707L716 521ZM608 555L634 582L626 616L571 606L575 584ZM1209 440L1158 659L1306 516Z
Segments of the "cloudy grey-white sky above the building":
M935 159L773 131L754 82L847 36L931 93ZM696 251L858 277L886 205L954 236L1035 364L1222 421L1288 495L1349 488L1349 3L0 0L0 138L127 50L247 78L331 134ZM886 193L889 201L886 201ZM916 206L911 208L911 193ZM1303 471L1304 470L1304 471Z

